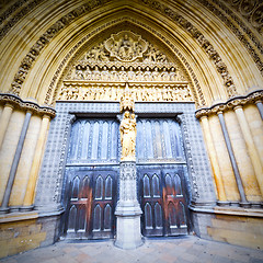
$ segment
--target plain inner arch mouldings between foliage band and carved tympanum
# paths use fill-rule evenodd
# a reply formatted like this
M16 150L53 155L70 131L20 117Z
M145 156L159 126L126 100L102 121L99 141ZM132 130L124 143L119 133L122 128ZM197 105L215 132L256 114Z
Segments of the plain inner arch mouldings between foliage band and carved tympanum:
M130 15L127 16L127 13ZM115 19L116 16L118 19ZM61 75L61 69L64 69L68 65L68 60L70 59L71 56L73 56L73 53L78 52L78 47L83 45L82 38L85 38L87 35L90 35L90 38L91 38L91 36L95 34L98 34L96 37L101 37L100 31L103 31L103 28L105 27L107 27L108 30L111 27L114 27L114 25L118 27L119 23L125 20L127 20L129 24L136 24L137 27L144 28L144 31L148 32L149 35L153 35L155 41L165 43L164 46L167 46L168 49L170 48L170 53L172 52L172 53L179 54L181 61L185 65L185 68L187 69L192 78L192 82L195 85L195 90L201 91L201 87L202 87L203 91L201 92L204 92L204 94L206 93L205 95L198 94L198 98L199 98L198 100L204 101L204 98L206 98L209 104L209 101L213 101L215 100L215 98L216 99L218 98L218 95L215 96L213 94L213 90L207 91L209 87L211 87L213 89L213 85L217 85L217 87L221 85L221 81L217 76L215 68L213 67L213 65L210 65L209 61L207 61L207 59L205 59L206 55L202 50L199 50L198 47L196 47L196 49L194 50L194 54L192 53L193 50L191 52L191 45L185 43L185 39L187 39L187 42L191 42L191 37L185 35L185 32L183 30L176 28L174 31L173 34L176 34L176 36L179 36L179 38L176 38L174 35L171 34L171 32L167 32L167 31L163 32L163 27L160 27L160 24L157 24L157 21L152 21L152 23L150 23L149 22L150 19L147 19L147 20L142 19L140 14L134 13L134 12L129 13L129 11L127 12L127 10L125 10L125 12L112 14L107 19L107 21L105 21L104 19L101 20L100 23L98 22L99 23L98 25L101 25L101 27L98 26L91 30L90 27L85 28L88 24L79 28L77 25L75 25L75 26L70 26L70 31L61 32L58 36L56 36L56 39L60 39L60 43L58 42L50 43L47 46L47 48L45 49L45 56L41 54L39 58L37 58L36 64L38 64L38 66L34 67L33 70L30 70L30 76L27 77L28 79L27 84L26 85L23 84L27 89L27 91L30 90L31 96L37 95L38 96L37 99L39 102L43 102L43 100L45 100L44 98L46 96L46 92L47 92L46 89L48 89L47 87L50 83L50 79L52 79L52 82L56 83L56 81L59 79ZM79 25L80 24L82 25L83 21L85 21L87 23L88 18L85 16L85 19L83 18L81 21L79 21ZM76 33L76 28L78 28L77 33ZM75 36L75 38L72 38L72 35ZM180 39L180 37L183 37L183 38ZM78 42L80 42L81 45L78 45ZM184 46L184 44L187 45L187 47ZM197 55L198 57L196 57ZM65 60L66 57L68 58ZM47 59L49 60L49 65L47 65L48 62ZM43 64L43 61L46 61L45 65ZM206 65L207 62L208 65ZM203 67L204 65L206 66ZM57 69L60 70L58 73L56 72ZM206 75L207 70L208 71L211 70L213 72L210 72L209 75ZM55 81L53 80L54 76L56 77ZM196 76L198 76L198 78ZM39 83L39 78L42 79L41 83ZM32 87L34 87L34 89ZM38 91L34 91L36 90L36 88L38 88ZM48 93L53 93L53 90L52 92L48 91ZM21 94L23 96L28 96L25 89L24 91L22 91ZM48 101L48 103L50 102ZM204 103L199 103L199 104L204 105Z

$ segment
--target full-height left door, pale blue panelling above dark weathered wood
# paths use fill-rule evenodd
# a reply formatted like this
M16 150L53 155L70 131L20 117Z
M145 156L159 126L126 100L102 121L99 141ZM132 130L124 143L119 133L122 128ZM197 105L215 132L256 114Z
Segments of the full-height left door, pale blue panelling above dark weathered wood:
M62 197L67 238L114 236L118 144L116 119L79 118L72 124Z

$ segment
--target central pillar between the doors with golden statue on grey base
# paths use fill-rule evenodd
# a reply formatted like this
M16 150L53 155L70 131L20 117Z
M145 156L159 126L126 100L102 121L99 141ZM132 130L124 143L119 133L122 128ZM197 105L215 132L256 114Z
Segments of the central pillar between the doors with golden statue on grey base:
M140 216L142 214L137 199L136 183L136 118L134 101L130 99L128 85L121 99L121 171L119 171L119 199L115 215L117 217L115 245L122 249L135 249L142 244L140 233Z

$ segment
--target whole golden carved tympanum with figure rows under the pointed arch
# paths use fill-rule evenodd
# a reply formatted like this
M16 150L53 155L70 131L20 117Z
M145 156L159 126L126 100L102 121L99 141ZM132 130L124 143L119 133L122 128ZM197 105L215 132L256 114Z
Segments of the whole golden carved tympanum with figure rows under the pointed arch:
M88 50L68 70L58 100L121 101L125 87L134 101L193 101L183 69L129 31Z

